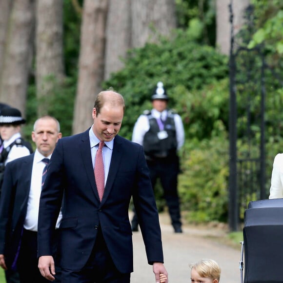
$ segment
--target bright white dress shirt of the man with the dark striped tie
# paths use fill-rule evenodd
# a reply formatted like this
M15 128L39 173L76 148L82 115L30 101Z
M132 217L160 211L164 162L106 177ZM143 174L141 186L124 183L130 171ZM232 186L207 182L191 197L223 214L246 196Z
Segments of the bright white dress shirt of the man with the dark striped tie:
M50 159L51 155L47 158ZM46 158L43 156L37 149L34 154L34 160L32 165L32 174L30 182L30 191L27 202L27 211L26 217L23 224L24 229L30 231L38 230L38 215L39 215L39 206L40 206L40 193L41 193L41 180L42 172L45 167L45 163L42 162L42 159ZM56 228L59 228L60 222L62 219L62 213L58 217Z

